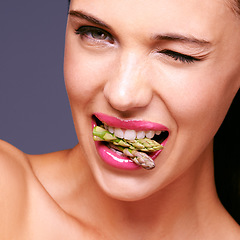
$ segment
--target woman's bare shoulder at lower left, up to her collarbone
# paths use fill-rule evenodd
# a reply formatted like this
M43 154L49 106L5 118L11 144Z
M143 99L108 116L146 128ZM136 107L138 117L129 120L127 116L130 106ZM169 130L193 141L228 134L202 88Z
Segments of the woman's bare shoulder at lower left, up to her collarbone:
M0 140L1 240L67 239L71 231L79 235L75 221L55 202L49 183L57 181L54 169L67 153L28 155Z

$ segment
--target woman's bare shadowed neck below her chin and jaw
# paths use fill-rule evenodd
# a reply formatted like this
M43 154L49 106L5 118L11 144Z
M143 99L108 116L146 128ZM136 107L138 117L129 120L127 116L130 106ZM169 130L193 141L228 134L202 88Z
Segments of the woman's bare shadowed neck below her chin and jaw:
M92 191L89 190L84 215L90 216L96 228L107 229L110 239L155 239L154 236L178 239L170 237L173 233L181 239L185 234L185 239L189 239L189 234L196 234L212 222L210 213L220 209L212 146L182 176L146 199L135 202L112 199L94 181Z

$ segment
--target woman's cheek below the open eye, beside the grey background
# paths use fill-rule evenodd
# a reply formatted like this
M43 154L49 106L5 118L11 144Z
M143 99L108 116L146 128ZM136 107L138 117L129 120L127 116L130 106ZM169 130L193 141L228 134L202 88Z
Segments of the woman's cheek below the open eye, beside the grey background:
M79 47L78 47L79 48ZM76 48L77 49L77 48ZM98 94L109 72L108 59L66 47L64 78L69 100L86 104Z

